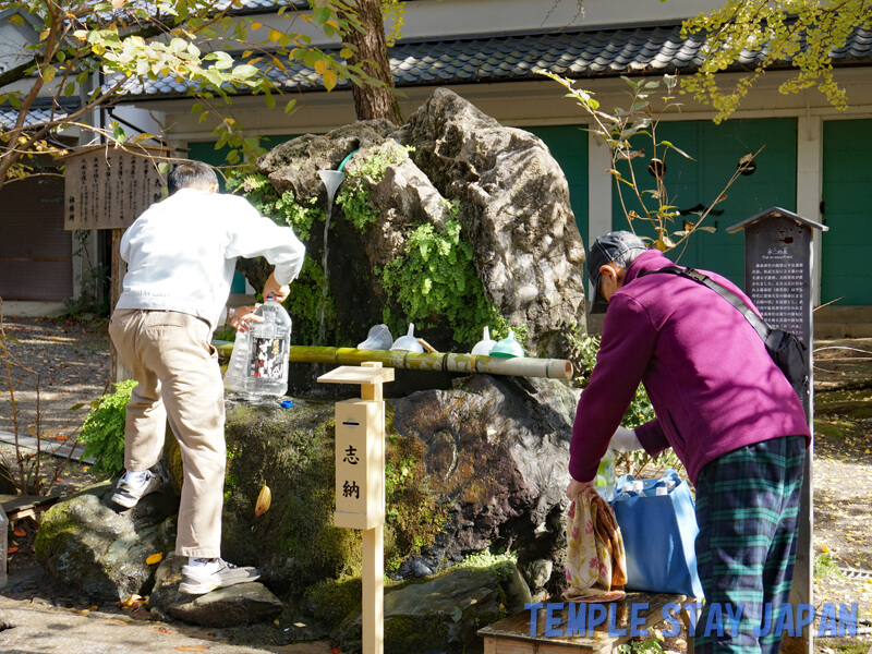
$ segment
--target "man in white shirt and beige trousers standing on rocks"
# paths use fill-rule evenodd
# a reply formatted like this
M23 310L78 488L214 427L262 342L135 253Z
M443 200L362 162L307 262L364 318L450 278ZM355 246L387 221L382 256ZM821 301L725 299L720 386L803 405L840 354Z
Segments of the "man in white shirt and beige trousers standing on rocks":
M170 196L121 239L128 272L109 335L138 385L128 404L126 471L112 500L131 508L160 489L161 475L150 469L160 460L169 420L184 470L175 554L189 561L179 590L203 594L259 577L255 568L220 558L227 456L223 384L211 335L237 257L264 256L274 264L264 296L281 302L305 249L291 228L262 217L246 199L219 194L218 178L205 164L178 166L168 186Z

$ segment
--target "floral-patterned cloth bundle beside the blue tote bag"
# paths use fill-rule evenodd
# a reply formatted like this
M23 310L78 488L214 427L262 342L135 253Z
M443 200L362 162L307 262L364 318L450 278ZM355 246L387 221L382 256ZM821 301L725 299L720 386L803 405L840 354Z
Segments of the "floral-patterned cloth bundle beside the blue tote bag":
M623 598L627 556L615 511L589 486L579 493L567 514L564 598L570 602L614 602Z

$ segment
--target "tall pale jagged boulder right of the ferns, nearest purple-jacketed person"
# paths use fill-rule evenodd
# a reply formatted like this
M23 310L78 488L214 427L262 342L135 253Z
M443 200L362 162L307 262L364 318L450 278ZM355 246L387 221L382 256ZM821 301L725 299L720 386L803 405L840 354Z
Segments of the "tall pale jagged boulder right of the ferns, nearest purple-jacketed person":
M447 198L475 247L487 296L529 347L566 356L565 335L583 323L584 246L566 177L545 144L506 128L447 88L393 133Z

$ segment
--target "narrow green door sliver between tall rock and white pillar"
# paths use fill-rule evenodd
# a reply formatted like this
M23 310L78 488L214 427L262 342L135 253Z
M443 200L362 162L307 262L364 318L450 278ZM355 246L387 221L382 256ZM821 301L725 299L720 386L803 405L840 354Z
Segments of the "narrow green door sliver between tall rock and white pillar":
M569 184L569 204L576 215L581 240L588 246L588 132L578 125L524 128L535 134L564 170Z

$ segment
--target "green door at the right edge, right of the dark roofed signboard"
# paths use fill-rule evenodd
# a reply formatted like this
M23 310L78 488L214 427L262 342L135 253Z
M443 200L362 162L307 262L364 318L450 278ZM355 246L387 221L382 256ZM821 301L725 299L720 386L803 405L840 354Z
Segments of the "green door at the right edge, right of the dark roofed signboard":
M824 123L821 302L872 304L872 120Z

